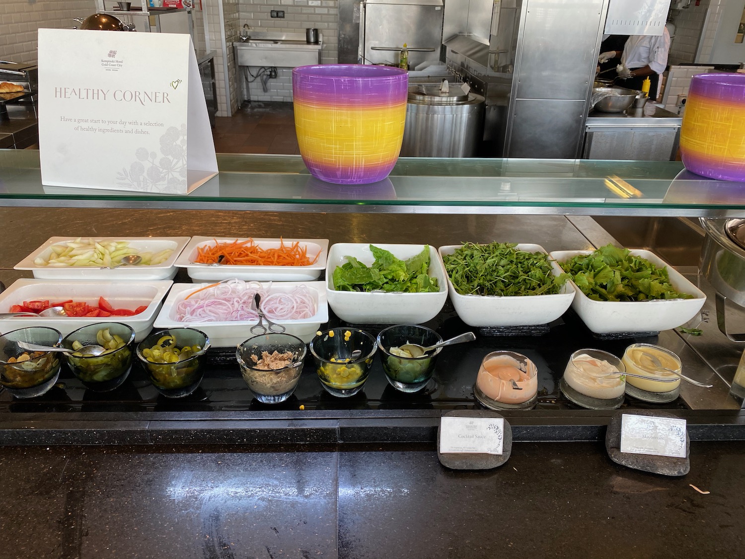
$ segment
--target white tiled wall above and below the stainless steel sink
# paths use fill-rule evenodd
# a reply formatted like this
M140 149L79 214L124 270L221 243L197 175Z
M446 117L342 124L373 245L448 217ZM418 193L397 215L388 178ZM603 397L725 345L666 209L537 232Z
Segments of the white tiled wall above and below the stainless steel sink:
M317 28L323 34L321 63L335 64L338 60L338 8L337 0L241 0L238 4L238 30L245 23L254 31L304 34L305 28ZM271 10L285 10L285 18L270 17ZM250 71L257 75L259 68L251 66ZM249 76L249 79L252 78ZM289 68L277 69L277 77L267 82L267 92L264 92L260 79L249 85L253 101L292 101L292 70Z

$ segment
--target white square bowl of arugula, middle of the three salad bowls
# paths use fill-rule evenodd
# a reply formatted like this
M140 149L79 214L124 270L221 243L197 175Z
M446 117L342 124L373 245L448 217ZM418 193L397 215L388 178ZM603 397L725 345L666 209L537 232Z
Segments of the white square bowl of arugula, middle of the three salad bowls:
M442 258L454 253L462 246L462 244L449 244L440 247L437 252L440 253ZM542 252L548 254L540 244L521 243L517 244L515 248L529 253ZM556 262L551 262L551 268L555 276L562 273ZM574 299L574 287L569 282L565 283L557 294L497 297L459 294L448 276L448 292L460 320L474 327L547 324L563 315Z

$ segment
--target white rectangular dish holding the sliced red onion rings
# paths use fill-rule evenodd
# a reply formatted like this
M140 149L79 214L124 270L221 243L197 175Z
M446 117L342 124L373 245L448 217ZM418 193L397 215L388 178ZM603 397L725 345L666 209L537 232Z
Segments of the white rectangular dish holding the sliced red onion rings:
M180 322L176 320L176 306L183 301L188 294L203 288L209 283L176 283L168 297L163 303L158 317L155 319L155 328L174 328L178 326L191 326L201 330L209 336L209 342L213 347L235 347L238 344L252 338L256 334L250 332L251 326L256 326L256 320L243 321L232 320L224 322ZM274 291L291 291L296 285L307 285L311 291L317 294L317 312L311 318L301 320L273 320L285 326L285 332L297 336L306 344L311 341L321 324L329 321L329 304L326 302L326 288L323 282L275 282L264 285L264 288Z

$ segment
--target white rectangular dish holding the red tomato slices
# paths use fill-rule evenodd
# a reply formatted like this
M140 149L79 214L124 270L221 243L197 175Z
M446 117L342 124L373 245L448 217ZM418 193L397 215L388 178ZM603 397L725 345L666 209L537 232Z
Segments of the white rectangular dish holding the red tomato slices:
M10 312L10 306L22 305L24 301L72 299L98 306L98 297L104 297L115 309L134 310L147 305L145 311L133 316L98 317L13 317L0 318L0 333L30 326L49 326L63 335L73 330L99 322L121 322L132 326L135 341L141 341L150 333L156 313L173 285L170 279L153 282L127 282L125 288L115 282L80 281L75 279L17 279L0 293L0 312Z

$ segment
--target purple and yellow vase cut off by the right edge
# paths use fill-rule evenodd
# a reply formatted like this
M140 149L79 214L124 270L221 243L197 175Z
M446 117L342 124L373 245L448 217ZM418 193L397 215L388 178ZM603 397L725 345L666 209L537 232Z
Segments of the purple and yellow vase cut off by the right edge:
M745 74L693 77L680 157L688 171L704 177L745 181Z

